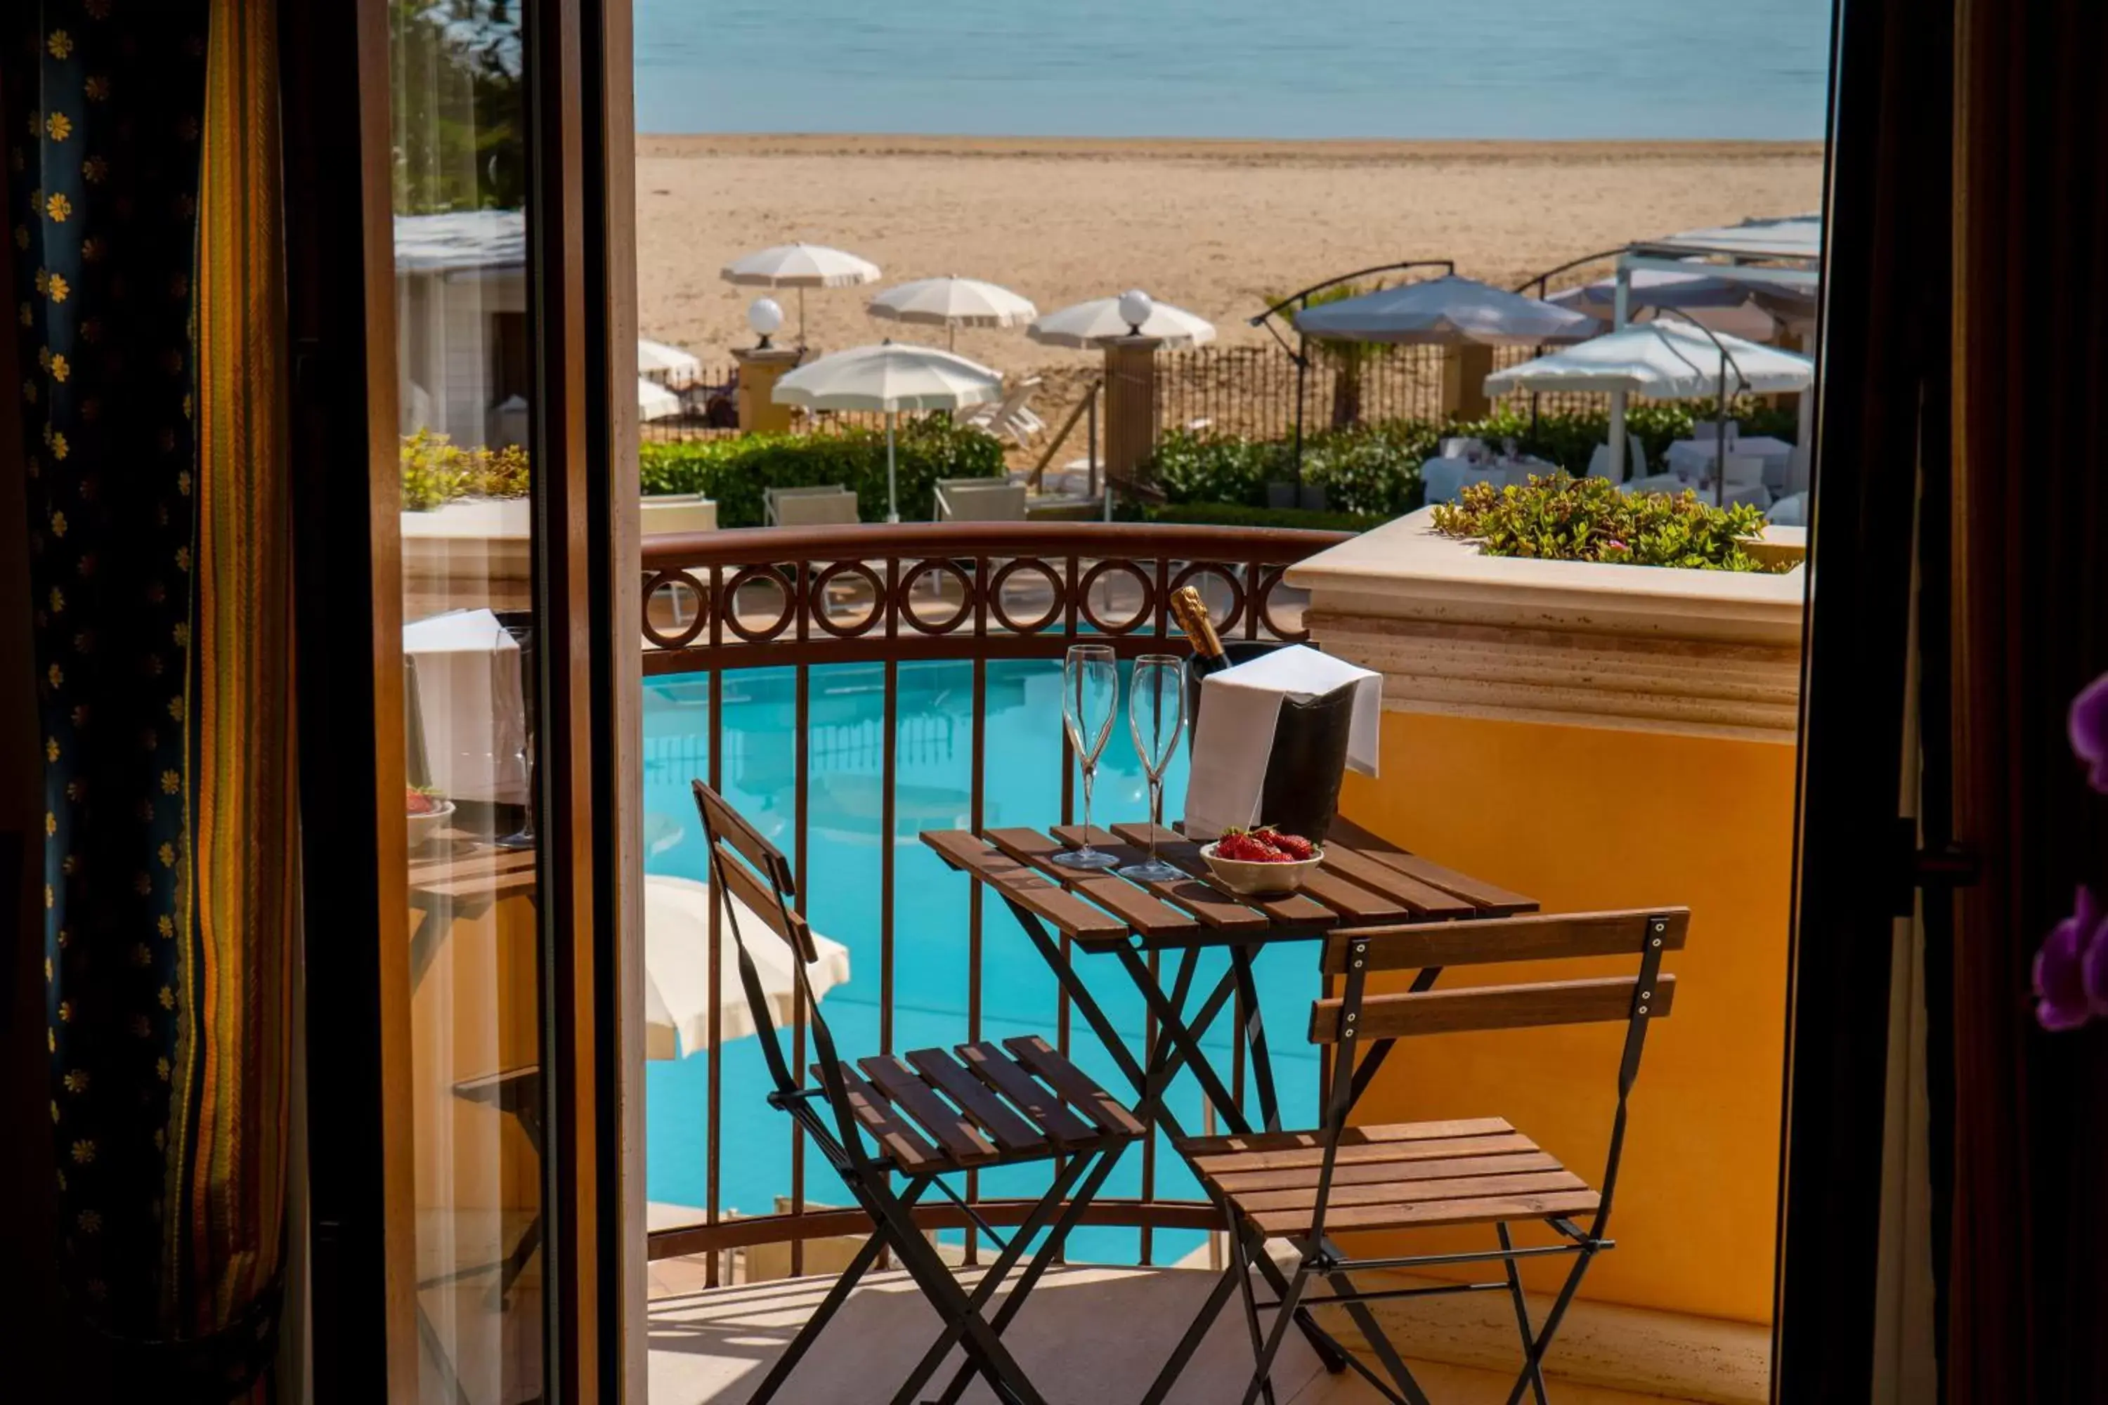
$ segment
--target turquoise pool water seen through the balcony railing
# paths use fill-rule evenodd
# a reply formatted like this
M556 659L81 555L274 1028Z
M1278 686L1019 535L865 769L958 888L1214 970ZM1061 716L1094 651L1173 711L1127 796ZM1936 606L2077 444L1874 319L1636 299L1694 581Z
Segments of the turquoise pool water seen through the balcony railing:
M894 1047L921 1049L965 1038L968 880L944 868L917 834L968 822L972 775L972 664L902 664L896 733L898 811L894 847ZM883 756L883 668L843 664L812 670L809 695L809 832L807 872L816 931L850 948L852 977L824 998L822 1011L850 1057L879 1049L879 853L883 836L879 767ZM704 674L645 680L645 811L681 826L681 838L653 853L649 872L704 876L704 845L687 781L710 765ZM1121 666L1121 693L1126 666ZM723 788L727 798L793 849L790 670L740 670L725 676ZM1060 664L989 664L987 800L991 826L1046 826L1060 817ZM1166 815L1185 794L1185 756L1166 781ZM1079 800L1081 805L1081 792ZM1149 798L1128 739L1126 712L1115 720L1098 769L1094 819L1145 819ZM1119 965L1086 958L1084 975L1119 1028L1128 1049L1143 1049L1143 1001ZM1202 979L1221 975L1223 956L1202 963ZM1303 1043L1315 994L1315 948L1290 944L1258 961L1261 1009L1271 1026L1275 1070L1288 1125L1315 1116L1318 1060ZM982 1034L1041 1032L1054 1036L1056 984L1010 910L989 899L982 916ZM1071 1057L1109 1089L1128 1091L1113 1060L1081 1017L1073 1022ZM1229 1068L1227 1020L1210 1041ZM790 1123L763 1102L767 1070L755 1038L723 1051L723 1207L772 1213L790 1194ZM702 1205L706 1199L704 1116L708 1055L645 1066L647 1194L653 1201ZM1199 1091L1191 1079L1172 1089L1172 1108L1199 1127ZM1157 1194L1197 1194L1185 1165L1159 1146ZM1140 1192L1143 1156L1132 1148L1115 1167L1105 1194ZM1039 1194L1043 1167L1016 1167L980 1178L982 1194ZM843 1188L818 1156L807 1156L805 1194L818 1205L841 1203ZM1168 1262L1199 1245L1197 1232L1157 1232L1155 1258ZM1075 1260L1134 1262L1132 1228L1081 1228L1069 1249Z

